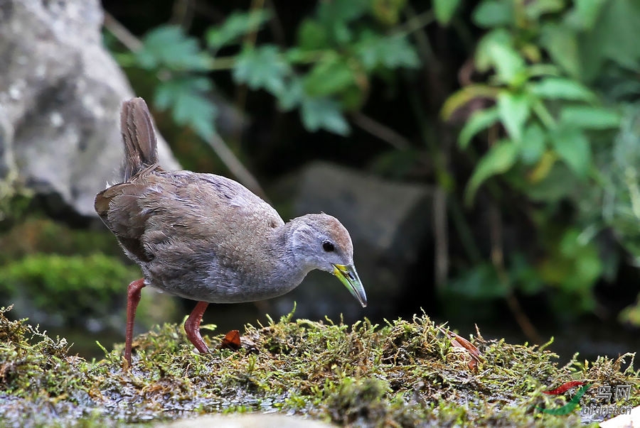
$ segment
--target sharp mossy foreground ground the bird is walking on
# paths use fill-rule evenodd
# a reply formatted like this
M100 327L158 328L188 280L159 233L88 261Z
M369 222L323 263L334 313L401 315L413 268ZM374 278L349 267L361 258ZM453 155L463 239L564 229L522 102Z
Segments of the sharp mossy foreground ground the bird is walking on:
M181 326L165 324L134 339L134 363L122 369L122 346L100 361L70 353L26 321L0 312L0 425L105 427L209 412L284 412L351 426L540 426L581 424L580 410L547 415L570 399L544 390L567 380L631 385L640 404L633 356L559 367L536 346L471 342L483 361L469 365L428 317L383 326L352 326L291 315L247 325L239 351L218 349L222 335L203 334L212 352L192 351ZM580 401L602 404L597 388Z

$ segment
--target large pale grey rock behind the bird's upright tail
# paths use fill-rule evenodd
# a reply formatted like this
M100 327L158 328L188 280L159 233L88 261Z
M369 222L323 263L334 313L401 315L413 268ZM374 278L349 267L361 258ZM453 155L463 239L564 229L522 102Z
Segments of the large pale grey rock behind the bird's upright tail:
M58 209L95 216L122 161L120 103L134 96L102 46L100 1L2 0L0 23L0 183L17 175Z

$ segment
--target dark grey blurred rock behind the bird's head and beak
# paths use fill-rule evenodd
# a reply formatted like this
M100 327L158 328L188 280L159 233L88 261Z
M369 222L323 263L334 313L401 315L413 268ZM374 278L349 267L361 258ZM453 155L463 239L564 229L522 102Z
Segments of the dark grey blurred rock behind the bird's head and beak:
M397 316L398 303L412 280L411 268L429 243L432 190L329 163L308 165L294 182L294 190L289 190L294 194L292 216L326 212L348 229L369 305L362 309L336 278L314 271L296 290L273 301L276 312L286 314L297 302L296 316L311 319L338 319L343 314L351 322L362 316ZM432 275L430 266L422 270Z

